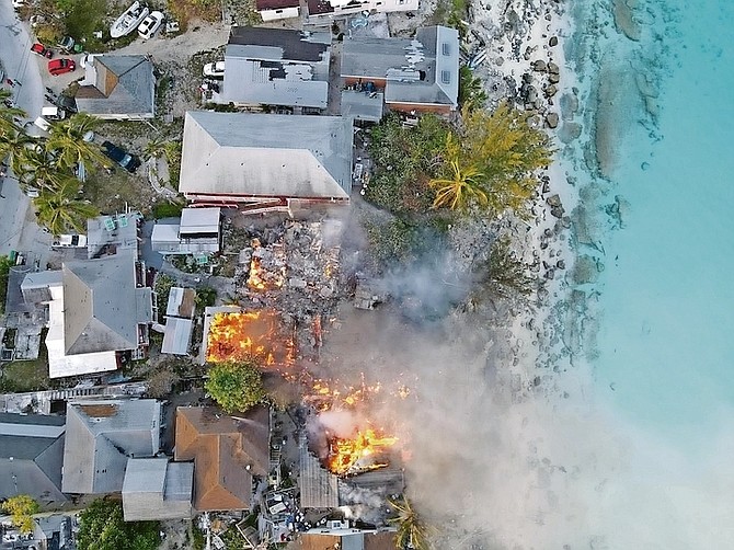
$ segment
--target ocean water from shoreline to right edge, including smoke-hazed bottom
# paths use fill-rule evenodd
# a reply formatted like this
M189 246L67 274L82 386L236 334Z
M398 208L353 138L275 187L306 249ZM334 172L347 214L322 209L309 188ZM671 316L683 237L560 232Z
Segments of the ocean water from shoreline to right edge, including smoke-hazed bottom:
M594 233L577 253L604 264L583 353L627 442L592 506L604 548L734 548L734 1L567 5L597 123L575 152Z

